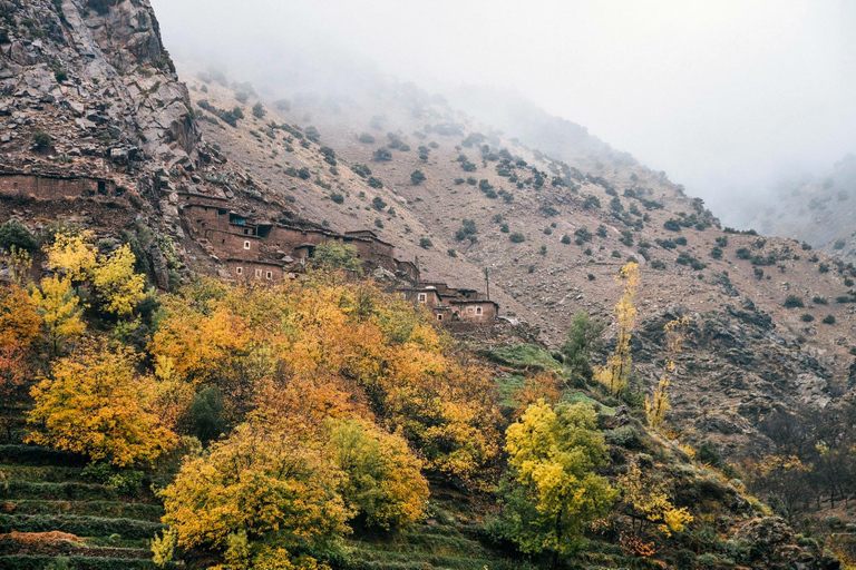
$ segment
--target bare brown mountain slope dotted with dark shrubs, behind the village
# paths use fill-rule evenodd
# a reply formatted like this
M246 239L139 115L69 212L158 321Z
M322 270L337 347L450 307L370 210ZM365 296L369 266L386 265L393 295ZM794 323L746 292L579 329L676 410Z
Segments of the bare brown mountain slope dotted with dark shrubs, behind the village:
M554 159L407 85L366 98L260 99L207 72L183 77L197 106L244 109L236 127L202 121L205 137L302 216L340 230L372 227L402 257L418 257L431 281L479 287L487 268L504 314L539 325L553 345L577 309L611 321L612 277L639 261L639 373L654 381L662 325L688 315L693 335L673 403L699 441L763 446L756 425L765 414L823 407L852 386L853 267L787 239L726 233L700 200L624 155L588 146ZM252 116L256 102L263 117ZM271 131L281 121L320 138L303 148ZM321 147L333 149L335 174ZM354 176L356 165L383 187ZM424 181L411 179L415 170ZM785 307L791 295L805 307ZM823 322L829 315L835 322Z

